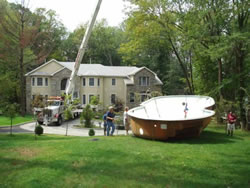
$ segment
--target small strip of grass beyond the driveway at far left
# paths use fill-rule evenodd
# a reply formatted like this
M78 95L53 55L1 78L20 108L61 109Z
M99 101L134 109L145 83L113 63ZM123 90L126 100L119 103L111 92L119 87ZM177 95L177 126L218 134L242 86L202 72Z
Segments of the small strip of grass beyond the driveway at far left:
M24 117L22 116L16 116L13 119L13 125L20 124L20 123L26 123L33 121L33 116L32 115L26 115ZM2 126L10 126L10 118L6 116L0 115L0 127Z

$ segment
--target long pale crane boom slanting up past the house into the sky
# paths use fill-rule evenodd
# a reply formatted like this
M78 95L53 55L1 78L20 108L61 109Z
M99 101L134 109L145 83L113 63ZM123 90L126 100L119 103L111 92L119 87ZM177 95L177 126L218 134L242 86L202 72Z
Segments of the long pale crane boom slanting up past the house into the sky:
M72 94L73 91L74 91L76 75L78 73L82 58L83 58L84 53L86 51L88 40L89 40L90 34L92 32L92 29L94 27L95 20L96 20L97 14L99 12L101 3L102 3L102 0L98 0L95 12L94 12L94 14L92 16L91 21L89 22L89 24L87 26L87 30L86 30L86 32L84 34L81 46L80 46L80 48L78 50L78 54L77 54L77 57L76 57L76 60L75 60L74 69L72 70L72 73L71 73L70 79L69 79L69 83L68 83L67 88L66 88L66 95Z

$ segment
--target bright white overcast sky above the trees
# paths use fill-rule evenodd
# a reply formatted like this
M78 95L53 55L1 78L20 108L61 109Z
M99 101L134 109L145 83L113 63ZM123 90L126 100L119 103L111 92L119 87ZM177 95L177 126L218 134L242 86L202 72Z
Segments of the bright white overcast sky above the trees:
M20 0L8 0L20 2ZM30 0L29 8L55 10L62 23L73 31L79 24L90 20L98 0ZM28 0L26 0L28 2ZM97 20L107 19L110 26L118 26L125 18L123 0L102 0Z

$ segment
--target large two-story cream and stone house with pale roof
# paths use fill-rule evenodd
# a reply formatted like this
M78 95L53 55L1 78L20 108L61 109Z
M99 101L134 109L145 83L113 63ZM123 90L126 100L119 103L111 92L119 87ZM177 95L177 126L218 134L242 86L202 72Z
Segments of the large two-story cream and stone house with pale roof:
M60 96L65 92L67 81L74 68L74 62L59 62L54 59L26 74L26 105L31 112L31 102L36 95ZM146 67L104 66L81 64L75 83L74 98L82 105L90 103L92 96L98 96L103 107L121 100L125 106L134 107L135 94L142 102L148 90L161 92L162 82Z

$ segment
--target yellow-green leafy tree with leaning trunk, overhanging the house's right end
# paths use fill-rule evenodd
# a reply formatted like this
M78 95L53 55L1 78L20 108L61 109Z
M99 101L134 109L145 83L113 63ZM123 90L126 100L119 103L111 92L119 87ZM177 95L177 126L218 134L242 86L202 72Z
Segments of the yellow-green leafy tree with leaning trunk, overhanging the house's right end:
M194 93L192 69L190 69L192 66L187 64L192 61L186 61L185 55L188 53L182 53L181 41L178 40L181 38L181 26L178 25L177 15L167 8L168 2L156 0L130 2L136 8L130 10L128 13L130 16L125 22L128 41L120 48L123 60L139 66L147 62L146 66L155 71L163 81L164 93L171 90L167 88L170 72L179 71L173 69L177 68L176 66L171 65L177 62L182 70L180 76L186 80L188 93ZM179 82L179 79L175 82Z

